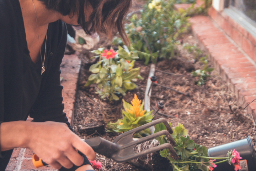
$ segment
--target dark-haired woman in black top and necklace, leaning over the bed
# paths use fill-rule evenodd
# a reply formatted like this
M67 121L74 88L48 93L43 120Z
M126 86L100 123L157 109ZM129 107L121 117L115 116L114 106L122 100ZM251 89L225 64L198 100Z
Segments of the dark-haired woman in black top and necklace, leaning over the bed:
M71 130L63 113L60 63L65 23L87 34L115 28L124 42L123 17L132 0L0 0L0 170L12 149L32 149L56 169L81 166L95 152ZM64 23L65 22L65 23ZM34 122L25 121L28 116Z

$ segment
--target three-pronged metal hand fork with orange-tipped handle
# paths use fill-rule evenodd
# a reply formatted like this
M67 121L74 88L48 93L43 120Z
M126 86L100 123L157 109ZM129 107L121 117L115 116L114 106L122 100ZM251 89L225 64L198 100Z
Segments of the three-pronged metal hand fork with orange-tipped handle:
M149 136L146 136L137 140L133 139L133 136L135 133L143 131L159 123L163 123L166 126L166 130L153 133ZM139 158L140 156L143 156L149 153L154 153L166 148L169 149L171 153L171 158L174 160L178 160L179 157L175 152L174 148L172 147L172 146L176 146L176 143L172 138L171 133L173 133L173 131L171 129L171 126L168 124L167 120L165 118L160 118L152 122L149 122L148 124L139 126L133 130L122 133L121 135L117 136L113 142L110 142L101 137L86 139L85 142L89 144L89 146L91 146L96 153L104 155L107 158L112 158L117 162L126 162L132 159ZM156 146L139 153L136 153L134 151L134 148L138 144L149 141L161 135L165 135L167 139L169 139L170 143L164 143L164 144L161 144L160 146ZM47 165L40 158L38 158L36 154L33 155L33 164L35 167L41 167L41 166Z

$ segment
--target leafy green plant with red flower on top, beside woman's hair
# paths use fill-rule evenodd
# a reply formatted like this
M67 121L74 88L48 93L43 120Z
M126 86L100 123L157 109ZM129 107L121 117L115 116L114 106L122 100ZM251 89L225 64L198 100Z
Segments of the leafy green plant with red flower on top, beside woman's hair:
M119 100L120 96L126 95L127 90L135 89L134 79L142 79L139 68L133 68L135 59L138 59L137 53L121 46L117 52L105 48L91 52L97 55L94 58L99 58L99 61L91 65L89 70L93 74L89 76L85 86L98 84L97 92L101 98L110 96L110 101Z

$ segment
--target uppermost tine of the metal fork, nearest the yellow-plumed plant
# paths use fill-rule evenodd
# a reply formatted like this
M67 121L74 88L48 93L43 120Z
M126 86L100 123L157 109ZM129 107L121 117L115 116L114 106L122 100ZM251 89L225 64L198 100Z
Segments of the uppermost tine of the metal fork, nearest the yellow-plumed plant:
M171 126L168 124L167 120L166 120L165 118L159 118L159 119L157 119L157 120L154 120L154 121L152 121L152 122L149 122L148 124L139 126L139 127L135 128L135 129L132 129L132 130L130 130L130 131L127 131L127 132L122 133L121 135L117 136L117 137L114 139L113 142L118 142L120 139L122 139L123 137L125 137L125 136L127 136L127 135L129 135L129 134L134 134L134 133L136 133L136 132L145 130L145 129L147 129L147 128L153 126L153 125L159 124L159 123L161 123L161 122L166 126L166 130L167 130L170 134L172 134L173 131L172 131L172 129L171 129Z

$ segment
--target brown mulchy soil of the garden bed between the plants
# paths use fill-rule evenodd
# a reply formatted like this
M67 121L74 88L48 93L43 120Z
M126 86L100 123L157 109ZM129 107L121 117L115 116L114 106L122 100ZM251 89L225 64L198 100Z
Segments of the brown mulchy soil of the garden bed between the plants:
M188 42L192 45L196 43L196 40L190 34L184 35L182 39L184 43ZM98 47L101 45L107 48L110 47L105 38L101 40L97 45ZM229 85L215 71L210 73L205 85L195 85L194 82L198 78L193 77L191 72L192 70L202 69L203 63L200 61L191 62L194 56L188 53L182 45L178 45L178 49L178 56L157 63L155 76L158 78L158 84L181 92L188 92L190 96L186 97L153 85L150 101L151 110L156 109L156 103L164 103L165 108L161 113L171 117L157 114L154 119L166 117L173 126L178 123L183 124L188 130L190 138L195 143L207 148L243 139L247 135L251 135L252 141L255 143L255 127L251 115L247 114L239 105L235 94L229 90ZM81 56L82 67L76 96L74 130L84 139L101 136L112 141L118 134L106 132L105 129L108 122L121 119L122 101L109 102L107 99L100 99L100 96L95 93L96 84L84 87L91 74L89 71L92 64L91 56L93 54L89 51ZM134 93L137 94L139 99L144 99L150 66L145 66L143 61L136 61L135 67L140 67L140 75L144 80L138 80L136 82L138 87L126 93L123 99L127 102L132 100ZM161 71L174 74L168 75ZM128 163L116 163L102 155L97 155L96 160L101 161L102 170L105 171L141 170ZM158 162L159 165L161 165L161 162L165 161ZM159 168L159 166L155 167ZM154 170L160 171L161 169Z

